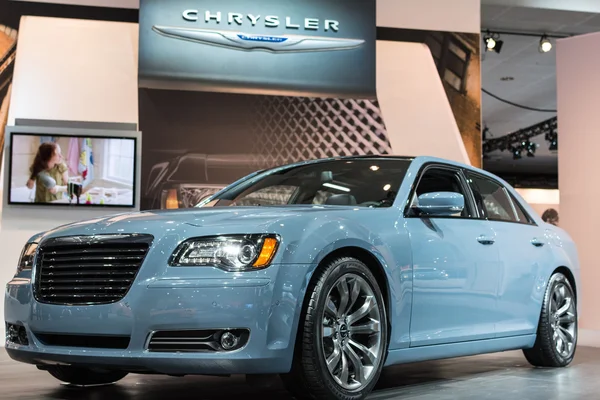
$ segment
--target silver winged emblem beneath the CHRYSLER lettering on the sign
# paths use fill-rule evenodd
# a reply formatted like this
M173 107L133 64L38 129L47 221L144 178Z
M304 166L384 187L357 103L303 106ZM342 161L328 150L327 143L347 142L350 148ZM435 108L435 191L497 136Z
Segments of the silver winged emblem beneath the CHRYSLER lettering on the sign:
M175 39L245 51L294 53L349 50L361 46L360 39L338 39L303 35L257 35L214 29L177 28L155 25L155 32Z

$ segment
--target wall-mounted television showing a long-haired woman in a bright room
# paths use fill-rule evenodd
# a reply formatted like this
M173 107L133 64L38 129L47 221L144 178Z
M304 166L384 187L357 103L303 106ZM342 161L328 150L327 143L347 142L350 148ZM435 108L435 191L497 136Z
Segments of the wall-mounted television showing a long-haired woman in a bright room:
M9 156L9 204L135 206L135 138L13 133Z

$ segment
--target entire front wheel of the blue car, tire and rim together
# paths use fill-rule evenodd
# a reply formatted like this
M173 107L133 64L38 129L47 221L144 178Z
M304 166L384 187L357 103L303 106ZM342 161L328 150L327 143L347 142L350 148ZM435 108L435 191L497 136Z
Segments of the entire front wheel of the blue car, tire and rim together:
M307 292L286 387L297 399L361 400L383 367L388 341L385 303L361 261L344 257L317 271Z

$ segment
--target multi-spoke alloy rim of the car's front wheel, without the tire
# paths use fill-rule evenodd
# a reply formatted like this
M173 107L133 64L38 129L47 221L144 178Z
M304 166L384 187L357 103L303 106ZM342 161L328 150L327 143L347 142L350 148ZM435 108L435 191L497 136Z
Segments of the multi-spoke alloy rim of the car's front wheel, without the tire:
M329 373L345 390L369 384L382 357L381 313L369 283L356 274L339 278L323 312L323 354Z

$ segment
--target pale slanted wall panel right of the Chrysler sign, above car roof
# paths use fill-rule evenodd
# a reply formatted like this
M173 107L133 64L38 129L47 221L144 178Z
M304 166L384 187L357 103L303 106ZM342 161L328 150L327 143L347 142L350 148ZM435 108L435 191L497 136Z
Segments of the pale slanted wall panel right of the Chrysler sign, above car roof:
M377 99L394 154L436 156L470 164L425 44L377 43Z

